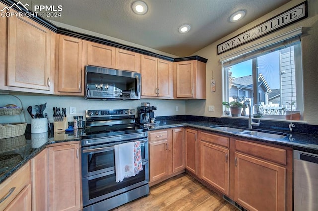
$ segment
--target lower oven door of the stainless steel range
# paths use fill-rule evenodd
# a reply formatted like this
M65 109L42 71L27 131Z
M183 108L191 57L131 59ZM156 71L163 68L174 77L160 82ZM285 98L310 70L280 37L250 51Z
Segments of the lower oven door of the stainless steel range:
M123 194L135 188L148 185L149 163L143 162L143 170L136 176L116 182L115 170L93 175L82 179L83 206Z

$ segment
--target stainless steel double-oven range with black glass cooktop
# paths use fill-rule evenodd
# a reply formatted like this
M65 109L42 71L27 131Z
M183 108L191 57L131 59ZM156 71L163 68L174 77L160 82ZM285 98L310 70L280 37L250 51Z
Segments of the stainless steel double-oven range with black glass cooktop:
M140 141L143 170L116 182L114 146ZM86 110L81 136L84 211L105 211L149 194L148 129L135 124L134 109Z

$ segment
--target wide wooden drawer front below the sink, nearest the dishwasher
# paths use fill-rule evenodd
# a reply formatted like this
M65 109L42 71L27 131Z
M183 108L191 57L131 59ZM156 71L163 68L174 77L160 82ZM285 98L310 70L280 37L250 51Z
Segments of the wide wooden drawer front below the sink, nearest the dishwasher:
M285 149L248 141L235 140L235 150L279 164L287 164L287 151Z

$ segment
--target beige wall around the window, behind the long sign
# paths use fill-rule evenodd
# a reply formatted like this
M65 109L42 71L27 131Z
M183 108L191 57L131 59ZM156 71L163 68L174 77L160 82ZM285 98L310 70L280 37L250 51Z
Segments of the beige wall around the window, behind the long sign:
M286 26L267 36L261 37L247 44L234 48L228 52L217 54L217 45L239 35L240 33L266 21L274 16L304 2L304 0L293 0L282 7L266 14L256 21L242 27L241 29L225 36L224 38L206 46L193 55L199 55L208 59L206 65L207 76L207 100L186 101L186 114L198 116L220 117L223 112L222 104L222 65L220 57L239 51L253 44L284 34L293 29L303 27L301 37L302 62L303 62L303 87L304 87L304 120L310 124L318 125L318 0L308 0L308 17L294 24ZM210 92L210 81L212 71L216 81L216 92ZM208 106L214 105L215 112L208 112Z

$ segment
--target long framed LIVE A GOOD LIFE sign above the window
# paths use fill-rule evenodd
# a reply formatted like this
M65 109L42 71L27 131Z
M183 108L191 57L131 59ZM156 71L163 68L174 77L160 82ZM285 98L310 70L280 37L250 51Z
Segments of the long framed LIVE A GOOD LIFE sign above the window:
M270 32L276 31L289 24L295 23L307 17L307 1L233 37L217 46L218 54L226 52L232 48L238 47L256 38L264 36Z

